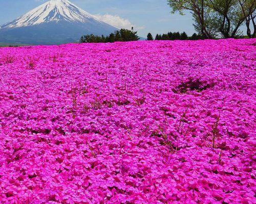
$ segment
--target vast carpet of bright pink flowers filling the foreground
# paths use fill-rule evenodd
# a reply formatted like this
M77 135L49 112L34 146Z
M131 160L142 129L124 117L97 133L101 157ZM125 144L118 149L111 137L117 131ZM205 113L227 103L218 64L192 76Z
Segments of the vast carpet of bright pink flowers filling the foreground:
M0 48L0 203L255 203L255 46Z

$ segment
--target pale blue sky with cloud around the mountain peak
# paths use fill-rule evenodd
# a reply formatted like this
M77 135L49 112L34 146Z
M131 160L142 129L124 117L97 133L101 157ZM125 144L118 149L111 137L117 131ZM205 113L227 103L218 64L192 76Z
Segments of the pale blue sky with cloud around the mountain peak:
M0 0L0 24L13 20L44 2L47 1ZM148 32L154 36L168 31L185 31L188 35L195 33L191 15L171 14L166 0L70 0L70 2L116 27L130 28L133 25L143 37Z

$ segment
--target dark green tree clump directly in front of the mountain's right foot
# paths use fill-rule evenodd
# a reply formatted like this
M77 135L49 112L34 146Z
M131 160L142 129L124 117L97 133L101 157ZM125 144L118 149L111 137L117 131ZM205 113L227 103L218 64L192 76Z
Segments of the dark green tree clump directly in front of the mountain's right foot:
M139 40L139 37L137 35L137 32L135 32L132 28L132 30L128 29L121 29L119 31L115 31L114 33L111 33L108 36L95 36L93 34L91 35L84 35L80 38L80 43L99 43L99 42L125 42L125 41L137 41Z

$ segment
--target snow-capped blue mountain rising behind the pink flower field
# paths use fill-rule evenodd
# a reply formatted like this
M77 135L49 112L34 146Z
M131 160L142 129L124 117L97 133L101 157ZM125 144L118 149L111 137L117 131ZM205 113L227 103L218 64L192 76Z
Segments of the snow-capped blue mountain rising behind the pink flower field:
M117 30L68 0L51 0L0 26L0 43L59 44Z

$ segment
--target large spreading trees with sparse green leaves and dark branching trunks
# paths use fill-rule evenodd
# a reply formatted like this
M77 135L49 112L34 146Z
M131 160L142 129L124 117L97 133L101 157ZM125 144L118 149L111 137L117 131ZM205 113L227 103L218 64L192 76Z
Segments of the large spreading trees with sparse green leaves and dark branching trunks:
M238 38L245 23L249 38L255 38L256 0L167 0L172 13L190 11L194 27L204 39ZM253 30L250 29L252 25Z

